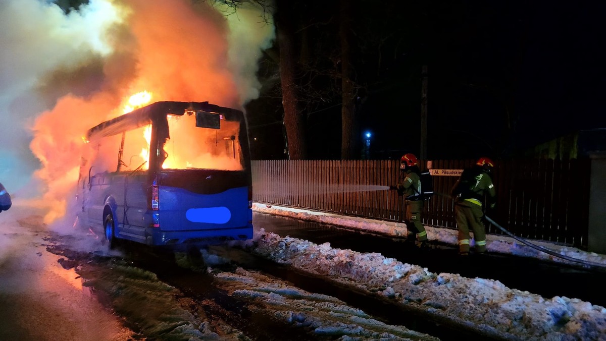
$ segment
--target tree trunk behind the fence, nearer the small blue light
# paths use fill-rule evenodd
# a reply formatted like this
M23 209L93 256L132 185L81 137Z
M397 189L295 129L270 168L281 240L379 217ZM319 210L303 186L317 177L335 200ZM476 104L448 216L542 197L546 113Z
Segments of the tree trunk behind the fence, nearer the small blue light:
M341 159L356 159L359 136L358 119L356 118L353 80L351 79L351 4L350 0L341 0Z

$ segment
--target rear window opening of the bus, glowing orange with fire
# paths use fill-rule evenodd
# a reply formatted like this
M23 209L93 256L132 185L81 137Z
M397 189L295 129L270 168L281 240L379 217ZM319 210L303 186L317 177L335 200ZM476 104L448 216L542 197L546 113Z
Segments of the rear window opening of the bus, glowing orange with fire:
M219 114L216 114L219 117ZM242 170L239 122L220 116L219 128L196 126L196 115L168 114L164 169ZM199 122L198 122L199 125Z

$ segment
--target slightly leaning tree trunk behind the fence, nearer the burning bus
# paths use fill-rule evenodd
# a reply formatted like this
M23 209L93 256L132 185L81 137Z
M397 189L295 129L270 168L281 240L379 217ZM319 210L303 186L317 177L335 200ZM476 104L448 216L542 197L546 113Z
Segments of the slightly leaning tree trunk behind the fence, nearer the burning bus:
M288 13L289 5L278 2L276 26L280 48L280 81L282 85L282 107L284 107L284 128L287 137L288 156L291 160L301 160L307 157L305 147L304 121L297 108L295 86L295 53L293 41L294 30L291 24L293 15Z

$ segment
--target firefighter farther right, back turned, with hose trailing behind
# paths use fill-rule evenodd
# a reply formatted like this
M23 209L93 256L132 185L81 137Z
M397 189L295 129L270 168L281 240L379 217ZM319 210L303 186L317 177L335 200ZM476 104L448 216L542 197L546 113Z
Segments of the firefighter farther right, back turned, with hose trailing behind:
M470 229L476 240L476 253L486 252L484 208L488 205L492 209L496 204L496 191L490 176L493 168L491 159L481 157L473 167L463 171L452 188L454 217L459 230L459 254L462 256L467 256L470 251ZM484 198L487 198L487 203Z

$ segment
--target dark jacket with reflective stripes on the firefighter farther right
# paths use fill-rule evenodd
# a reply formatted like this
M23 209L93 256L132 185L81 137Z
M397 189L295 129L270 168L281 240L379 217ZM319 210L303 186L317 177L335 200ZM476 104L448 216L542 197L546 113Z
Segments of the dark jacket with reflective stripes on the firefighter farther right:
M490 177L482 167L473 167L463 171L451 191L454 202L471 202L482 207L486 197L490 208L496 204L496 190Z

